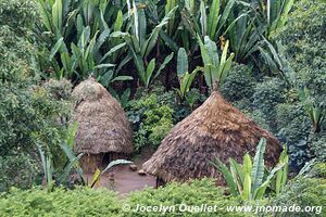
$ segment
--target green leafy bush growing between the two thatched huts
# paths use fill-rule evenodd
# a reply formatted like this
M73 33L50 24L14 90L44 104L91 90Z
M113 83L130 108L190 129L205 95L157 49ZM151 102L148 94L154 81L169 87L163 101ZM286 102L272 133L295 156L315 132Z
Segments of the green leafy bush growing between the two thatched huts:
M155 149L173 127L173 110L158 102L156 94L131 101L127 107L135 130L136 149Z

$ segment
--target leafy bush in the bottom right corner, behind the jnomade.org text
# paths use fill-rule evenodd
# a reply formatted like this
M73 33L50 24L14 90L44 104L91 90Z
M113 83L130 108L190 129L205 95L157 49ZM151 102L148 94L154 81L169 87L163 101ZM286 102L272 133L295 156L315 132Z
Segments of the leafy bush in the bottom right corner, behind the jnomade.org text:
M276 196L271 205L290 207L293 204L304 208L305 206L323 206L326 204L326 179L299 177L293 179L286 188L285 193ZM324 207L323 207L324 208ZM276 216L325 216L326 210L318 208L322 213L277 213Z

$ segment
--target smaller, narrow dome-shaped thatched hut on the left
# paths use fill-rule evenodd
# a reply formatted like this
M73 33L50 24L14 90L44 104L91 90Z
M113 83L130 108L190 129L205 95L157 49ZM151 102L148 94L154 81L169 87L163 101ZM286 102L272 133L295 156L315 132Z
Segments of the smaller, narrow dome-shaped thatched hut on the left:
M76 107L71 122L78 125L74 151L85 153L80 159L85 171L91 173L133 152L127 116L102 85L89 78L75 87L73 98Z

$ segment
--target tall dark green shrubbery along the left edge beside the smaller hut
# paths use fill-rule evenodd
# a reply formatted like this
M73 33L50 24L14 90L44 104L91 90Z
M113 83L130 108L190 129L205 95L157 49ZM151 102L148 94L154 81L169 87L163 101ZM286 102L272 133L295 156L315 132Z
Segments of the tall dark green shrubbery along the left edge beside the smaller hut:
M55 165L63 164L58 144L66 131L59 120L71 112L67 100L55 98L33 76L37 49L29 42L28 34L20 31L30 27L28 18L35 13L28 2L0 2L1 191L11 186L28 188L34 182L39 173L38 145L58 156L53 158ZM4 20L7 23L2 23Z

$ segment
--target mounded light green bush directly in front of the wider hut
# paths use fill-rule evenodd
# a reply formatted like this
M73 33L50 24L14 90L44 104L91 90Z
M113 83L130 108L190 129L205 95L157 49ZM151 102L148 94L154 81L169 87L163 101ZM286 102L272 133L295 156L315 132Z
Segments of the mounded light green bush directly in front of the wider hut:
M239 205L240 200L224 195L223 189L216 188L211 179L192 180L190 183L170 183L164 188L146 189L140 192L134 192L126 200L131 208L137 204L145 206L176 206L175 212L166 213L165 216L243 216L239 213L227 213L226 206ZM190 213L178 212L178 205L216 205L217 213ZM125 216L158 216L156 213L125 213Z

